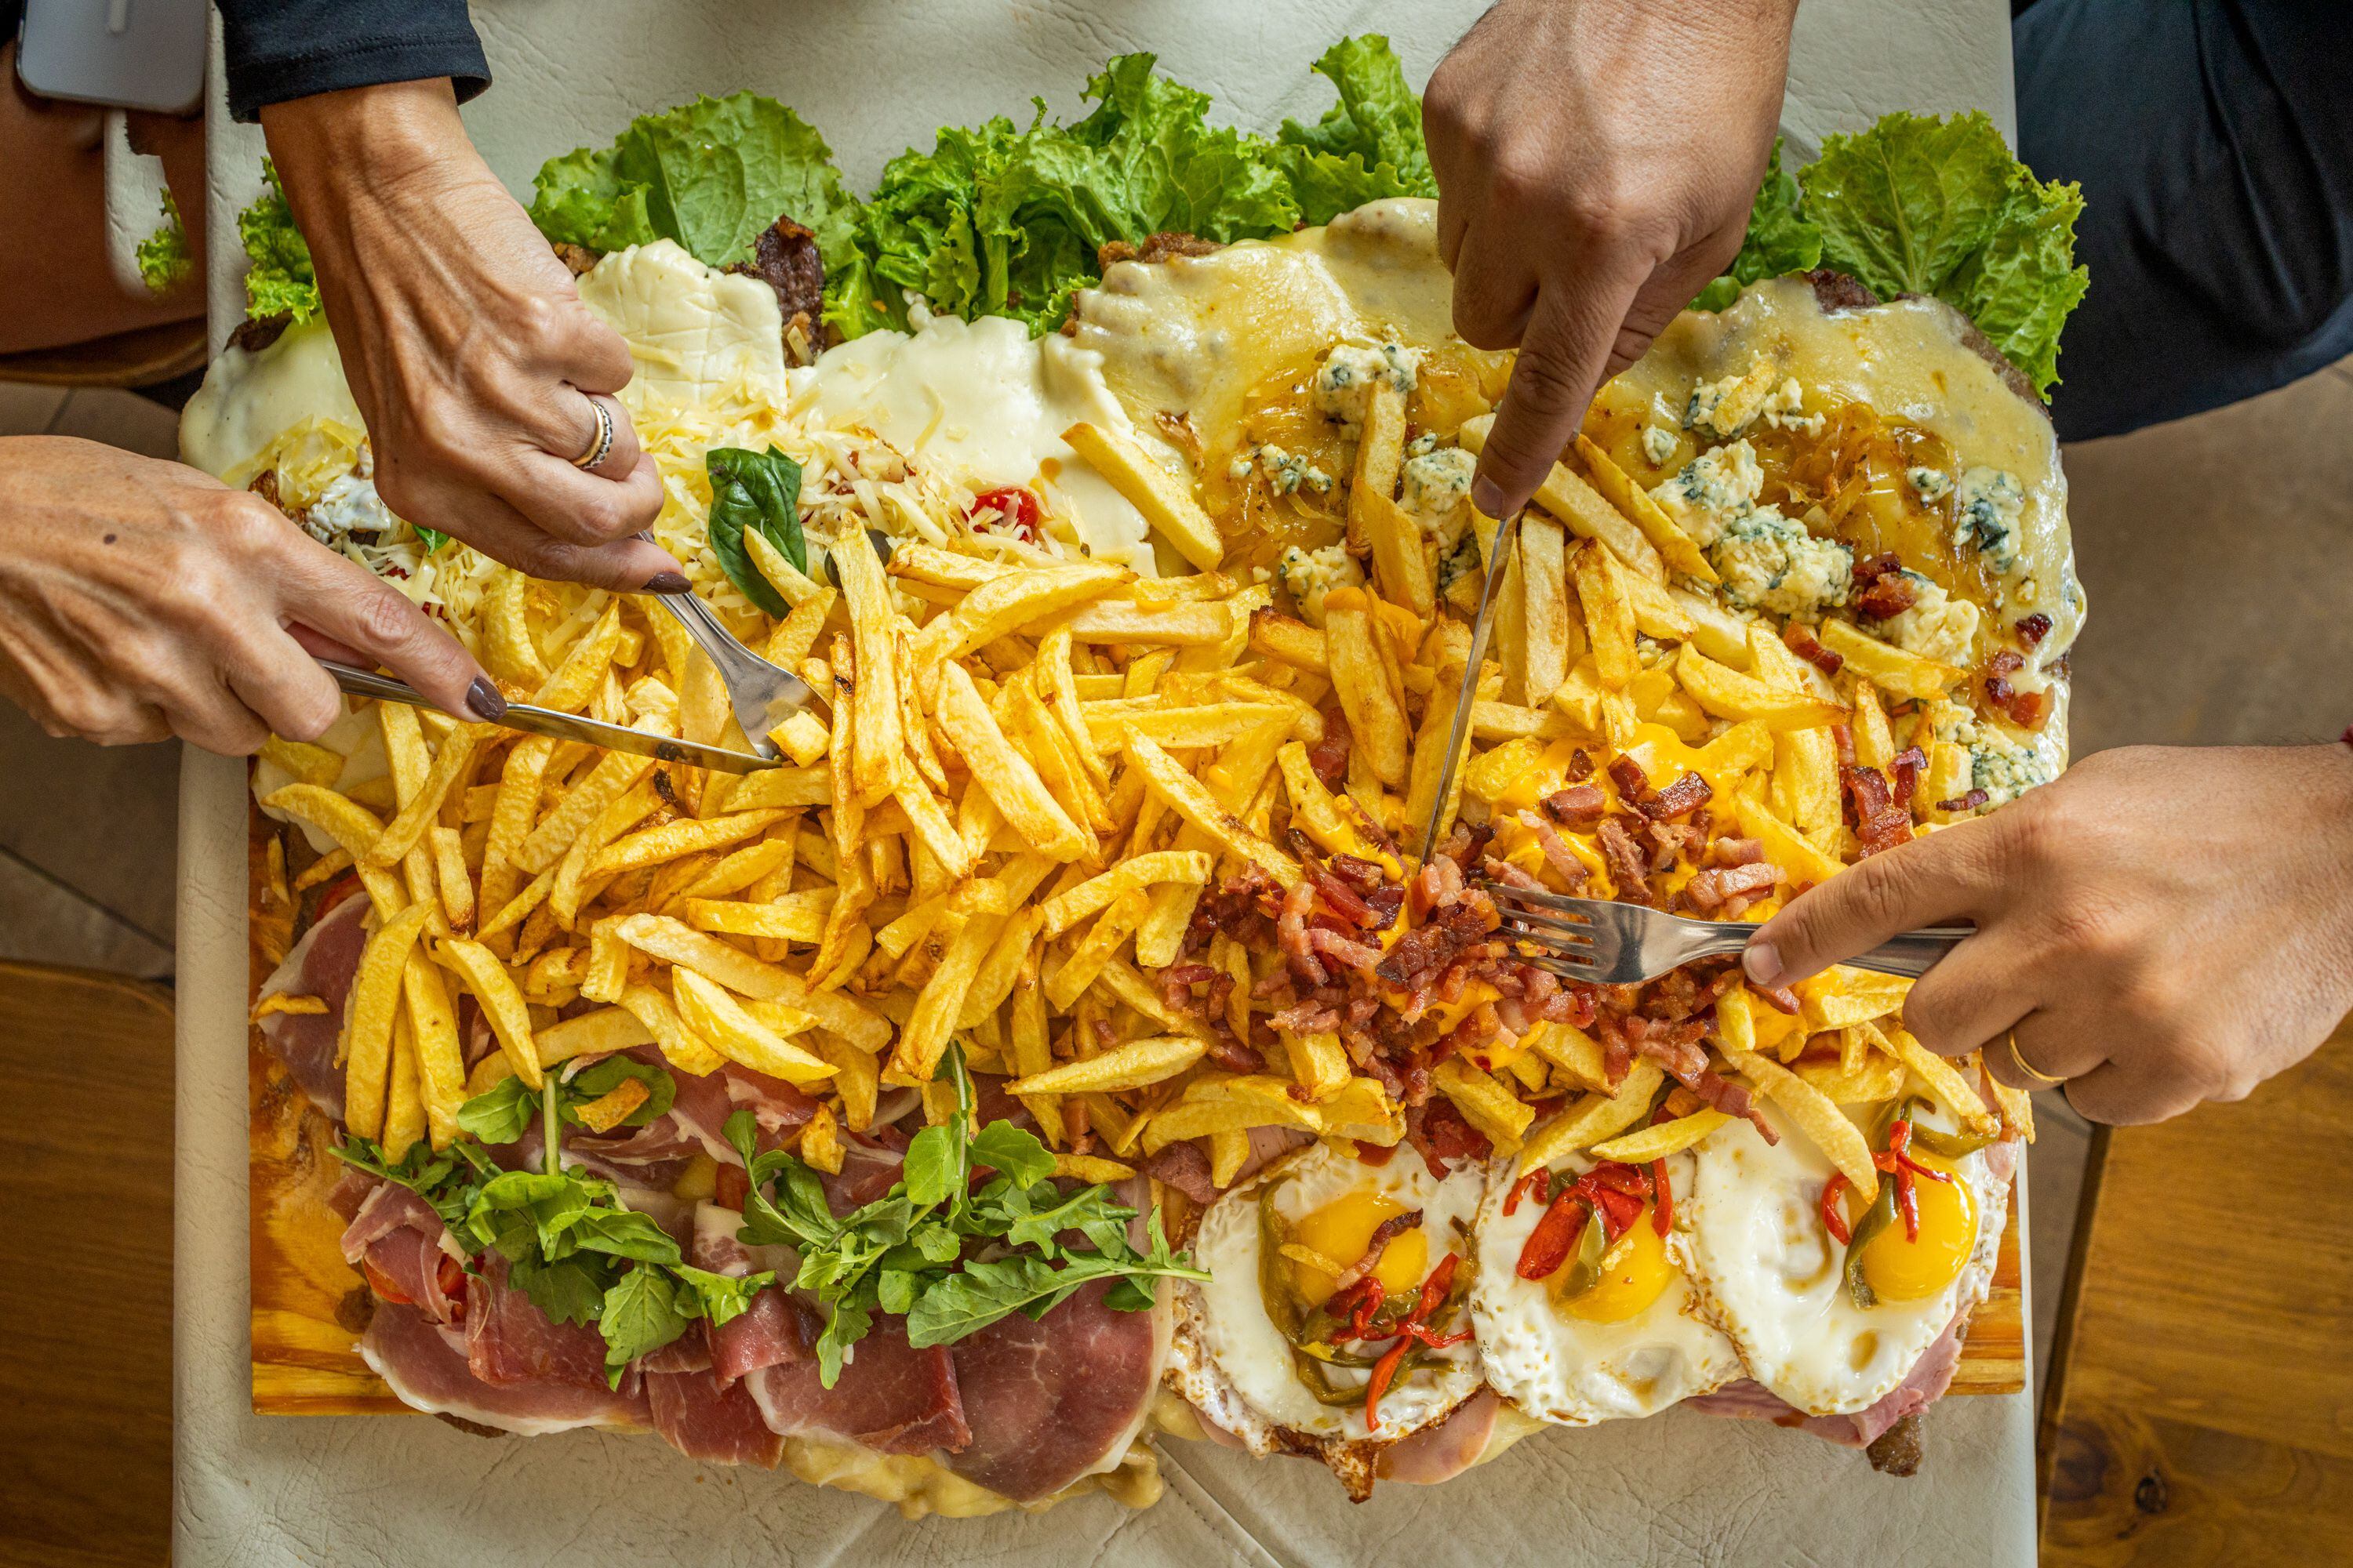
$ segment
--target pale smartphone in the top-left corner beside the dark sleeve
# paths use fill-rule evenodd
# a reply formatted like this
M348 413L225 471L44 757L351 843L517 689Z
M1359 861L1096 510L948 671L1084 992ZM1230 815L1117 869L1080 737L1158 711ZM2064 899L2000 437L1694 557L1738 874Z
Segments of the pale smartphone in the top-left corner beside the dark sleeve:
M16 78L42 99L184 115L205 94L207 0L26 0Z

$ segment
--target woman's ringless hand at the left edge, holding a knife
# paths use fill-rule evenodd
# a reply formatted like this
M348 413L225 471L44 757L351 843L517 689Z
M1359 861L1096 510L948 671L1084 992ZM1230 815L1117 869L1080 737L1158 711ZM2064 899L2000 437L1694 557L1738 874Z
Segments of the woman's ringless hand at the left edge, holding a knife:
M0 691L52 736L311 741L344 712L313 654L506 712L454 637L261 496L96 442L0 440Z

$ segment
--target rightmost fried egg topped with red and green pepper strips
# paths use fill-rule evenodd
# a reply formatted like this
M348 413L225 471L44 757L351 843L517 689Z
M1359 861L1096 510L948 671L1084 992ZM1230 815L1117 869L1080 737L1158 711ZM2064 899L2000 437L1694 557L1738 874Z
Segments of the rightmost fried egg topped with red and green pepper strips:
M1760 1105L1781 1135L1767 1145L1748 1121L1727 1121L1692 1154L1692 1190L1678 1215L1689 1225L1699 1314L1732 1335L1748 1375L1807 1415L1866 1410L1889 1394L1962 1307L1986 1298L2009 1201L1984 1152L1922 1166L1953 1180L1918 1180L1920 1237L1892 1222L1866 1237L1864 1206L1845 1213L1861 1239L1861 1279L1875 1305L1847 1286L1847 1246L1821 1218L1831 1159ZM1880 1107L1852 1107L1868 1135ZM1944 1110L1915 1103L1922 1128L1953 1131ZM1880 1147L1880 1145L1875 1145ZM1882 1182L1892 1178L1882 1175Z

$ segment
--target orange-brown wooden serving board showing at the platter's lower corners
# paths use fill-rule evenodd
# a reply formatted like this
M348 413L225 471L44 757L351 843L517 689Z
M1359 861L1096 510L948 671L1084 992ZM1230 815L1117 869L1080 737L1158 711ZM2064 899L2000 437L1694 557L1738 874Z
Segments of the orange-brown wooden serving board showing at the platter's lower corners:
M289 832L249 806L247 823L247 1001L292 945L294 910L268 893L268 844ZM254 1413L405 1415L409 1406L367 1371L360 1331L369 1300L344 1262L344 1222L327 1206L341 1164L327 1152L334 1128L294 1088L285 1067L247 1032L252 1138L252 1333ZM2012 1185L2014 1187L2014 1185ZM2026 1331L2019 1298L2019 1206L2012 1194L1993 1293L1969 1321L1953 1394L2017 1394L2026 1387Z

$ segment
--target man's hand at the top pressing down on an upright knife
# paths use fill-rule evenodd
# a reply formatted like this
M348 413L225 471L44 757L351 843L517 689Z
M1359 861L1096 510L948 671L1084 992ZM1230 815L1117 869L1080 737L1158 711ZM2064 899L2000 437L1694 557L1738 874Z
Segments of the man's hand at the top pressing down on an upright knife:
M1506 517L1748 228L1795 0L1504 0L1431 75L1454 329L1520 348L1471 501Z

